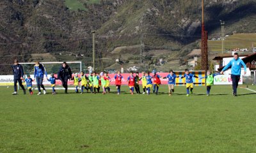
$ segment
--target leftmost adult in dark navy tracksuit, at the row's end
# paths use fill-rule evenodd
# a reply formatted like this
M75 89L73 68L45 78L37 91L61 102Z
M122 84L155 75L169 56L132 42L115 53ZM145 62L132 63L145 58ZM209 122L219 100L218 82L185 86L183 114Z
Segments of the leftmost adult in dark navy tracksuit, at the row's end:
M23 67L19 64L19 61L17 59L14 60L12 71L13 71L13 80L14 80L14 92L12 94L13 95L17 94L17 82L19 82L19 85L22 88L23 93L26 94L26 90L22 85L22 80L24 79Z

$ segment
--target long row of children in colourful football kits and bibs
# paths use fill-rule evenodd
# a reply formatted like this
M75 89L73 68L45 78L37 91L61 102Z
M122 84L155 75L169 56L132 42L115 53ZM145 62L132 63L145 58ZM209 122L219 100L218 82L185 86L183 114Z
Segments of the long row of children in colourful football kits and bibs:
M138 72L136 72L136 75L134 76L134 73L131 71L130 76L127 78L127 82L128 82L131 94L134 94L134 89L137 94L141 94L140 83L139 83L140 81L142 83L142 88L143 88L142 94L147 93L149 95L150 89L152 88L152 86L153 86L153 93L158 94L159 85L161 84L161 80L160 80L161 76L157 75L156 71L152 71L152 73L153 75L150 76L149 71L142 72L142 76L139 77ZM211 86L213 85L213 82L214 82L213 78L219 74L220 73L212 74L211 71L207 71L207 75L205 75L205 77L202 77L202 78L206 78L207 96L209 96L210 94ZM186 96L189 96L189 91L190 91L190 94L193 94L193 77L198 78L196 75L189 73L189 69L185 69L185 74L182 77L180 77L180 78L185 78L186 80L186 91L187 91ZM174 86L176 84L175 80L176 78L179 78L179 76L175 75L175 73L171 69L170 73L164 78L168 79L168 93L169 93L169 96L171 96L174 92ZM202 79L202 78L199 78L199 79ZM58 78L54 77L54 74L51 74L51 77L47 78L47 80L51 82L52 94L56 94L54 87L57 79ZM117 94L120 94L122 80L124 79L124 77L122 77L122 75L120 74L120 71L118 71L114 79L115 79ZM82 71L80 73L80 77L78 73L75 73L72 80L74 80L76 93L79 93L79 83L81 84L81 94L84 93L84 89L87 92L89 92L89 89L90 89L90 92L94 94L99 93L100 86L102 86L102 90L103 90L102 94L106 94L107 91L108 93L110 92L109 86L110 86L111 78L108 76L108 73L106 72L104 73L102 72L100 74L93 72L87 77ZM30 78L29 75L27 75L25 82L29 90L29 93L33 94L33 91L31 89L33 80Z

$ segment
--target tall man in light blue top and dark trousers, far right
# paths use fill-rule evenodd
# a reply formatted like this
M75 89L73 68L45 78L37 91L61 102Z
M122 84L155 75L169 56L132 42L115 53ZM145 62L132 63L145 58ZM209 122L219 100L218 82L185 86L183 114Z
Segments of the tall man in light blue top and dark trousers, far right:
M246 64L244 61L238 57L237 53L234 53L234 59L228 62L227 66L225 66L220 72L223 75L223 72L226 71L231 66L231 79L232 79L232 87L233 87L233 96L237 96L237 87L238 82L241 76L241 67L244 66L244 75L246 74Z

